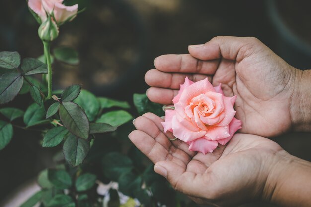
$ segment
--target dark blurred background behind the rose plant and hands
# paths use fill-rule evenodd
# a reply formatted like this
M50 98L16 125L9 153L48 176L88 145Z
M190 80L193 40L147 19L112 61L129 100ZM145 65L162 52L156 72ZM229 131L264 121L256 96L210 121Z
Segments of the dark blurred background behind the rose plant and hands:
M299 69L311 69L310 1L305 0L65 0L86 10L60 28L56 46L78 50L80 64L55 63L54 88L82 84L97 95L127 100L148 88L144 74L162 54L187 53L187 46L218 35L254 36ZM43 53L38 24L25 1L0 0L0 51L22 57ZM30 101L30 100L29 100ZM24 101L23 101L24 102ZM23 107L19 99L15 105ZM263 129L264 130L264 129ZM291 154L311 161L311 135L274 138ZM15 131L0 151L0 201L33 178L51 160L38 134ZM253 204L252 206L265 206Z

